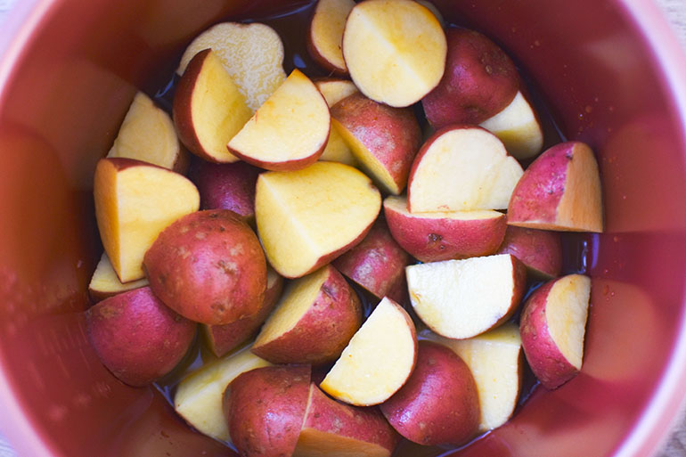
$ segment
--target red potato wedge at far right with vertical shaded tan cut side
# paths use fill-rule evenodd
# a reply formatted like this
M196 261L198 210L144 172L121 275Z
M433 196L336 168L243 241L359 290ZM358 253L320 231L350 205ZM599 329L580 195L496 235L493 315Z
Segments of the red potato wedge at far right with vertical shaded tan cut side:
M538 156L512 192L508 224L602 232L600 174L591 148L559 143Z

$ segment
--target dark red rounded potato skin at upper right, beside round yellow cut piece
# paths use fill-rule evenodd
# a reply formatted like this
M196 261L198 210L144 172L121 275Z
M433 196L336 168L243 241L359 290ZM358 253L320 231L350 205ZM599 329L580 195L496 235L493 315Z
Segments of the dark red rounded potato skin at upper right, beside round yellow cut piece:
M519 73L510 57L490 39L468 29L445 30L445 73L421 105L429 123L481 124L502 111L519 90Z

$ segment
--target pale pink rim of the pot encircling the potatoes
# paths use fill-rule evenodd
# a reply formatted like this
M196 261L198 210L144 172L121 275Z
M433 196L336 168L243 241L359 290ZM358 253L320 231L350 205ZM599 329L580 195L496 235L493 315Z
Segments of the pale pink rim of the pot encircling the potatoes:
M0 33L0 111L8 87L15 77L13 70L23 60L37 29L50 19L58 0L22 0L13 5ZM686 54L664 13L652 0L619 0L658 64L665 89L673 100L674 118L681 121L683 153L686 156ZM686 298L686 285L682 299ZM619 443L614 457L639 457L657 453L679 413L686 406L686 301L682 303L678 337L674 341L665 371L643 410L641 418ZM1 356L2 354L0 354ZM25 455L55 457L50 437L39 433L14 396L0 358L0 429L14 449ZM55 451L55 452L53 452Z

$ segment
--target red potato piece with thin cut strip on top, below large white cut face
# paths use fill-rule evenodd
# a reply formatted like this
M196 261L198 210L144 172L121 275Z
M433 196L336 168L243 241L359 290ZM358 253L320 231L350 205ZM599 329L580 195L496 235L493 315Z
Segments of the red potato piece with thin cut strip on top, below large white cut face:
M383 209L393 238L421 262L494 254L507 227L505 215L489 209L411 213L407 199L393 196Z

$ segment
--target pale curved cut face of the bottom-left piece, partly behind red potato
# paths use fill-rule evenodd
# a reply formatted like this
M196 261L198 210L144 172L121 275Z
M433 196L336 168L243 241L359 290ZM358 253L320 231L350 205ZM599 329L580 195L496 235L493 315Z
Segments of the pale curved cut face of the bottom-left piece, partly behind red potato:
M203 365L179 383L174 409L200 433L231 441L229 424L222 411L225 388L241 373L271 365L252 354L250 347Z

